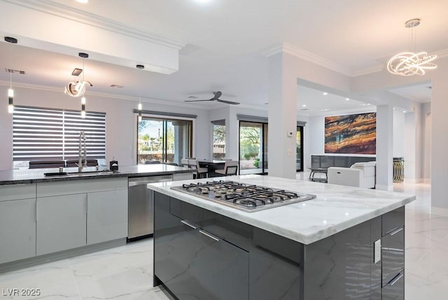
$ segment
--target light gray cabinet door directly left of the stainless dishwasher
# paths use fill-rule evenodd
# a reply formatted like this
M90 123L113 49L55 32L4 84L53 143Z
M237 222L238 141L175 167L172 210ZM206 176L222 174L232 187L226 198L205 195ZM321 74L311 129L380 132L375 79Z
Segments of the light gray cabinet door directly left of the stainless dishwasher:
M127 189L87 193L87 245L127 236Z

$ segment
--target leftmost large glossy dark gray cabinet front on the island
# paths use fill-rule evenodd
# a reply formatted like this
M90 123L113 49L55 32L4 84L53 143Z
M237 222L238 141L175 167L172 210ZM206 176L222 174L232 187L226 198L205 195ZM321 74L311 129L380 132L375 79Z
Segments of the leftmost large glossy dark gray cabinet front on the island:
M248 299L248 252L172 214L158 217L155 270L179 299Z

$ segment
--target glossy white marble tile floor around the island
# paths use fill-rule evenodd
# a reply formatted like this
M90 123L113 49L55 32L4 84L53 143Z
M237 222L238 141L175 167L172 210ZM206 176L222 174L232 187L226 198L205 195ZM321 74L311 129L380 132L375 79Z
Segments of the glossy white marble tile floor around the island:
M297 179L307 179L306 172ZM448 217L430 213L430 184L395 184L415 193L406 207L405 299L447 299ZM152 287L152 238L0 274L0 299L171 299ZM8 296L8 289L40 289L40 296Z

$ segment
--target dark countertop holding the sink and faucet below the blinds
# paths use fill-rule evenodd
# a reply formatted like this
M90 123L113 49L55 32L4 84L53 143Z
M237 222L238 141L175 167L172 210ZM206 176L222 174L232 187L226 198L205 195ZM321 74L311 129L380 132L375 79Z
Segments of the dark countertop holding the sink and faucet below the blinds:
M6 184L29 184L34 182L60 182L67 180L79 179L97 179L97 178L113 178L113 177L145 177L170 175L175 173L193 172L193 170L175 165L165 165L164 163L155 165L125 165L119 166L118 172L100 172L104 168L99 168L98 172L95 167L87 167L83 169L83 173L71 174L70 176L44 177L43 173L59 172L59 168L49 169L22 169L22 170L6 170L0 171L0 186ZM64 172L75 173L78 168L64 168ZM94 173L89 173L94 172Z

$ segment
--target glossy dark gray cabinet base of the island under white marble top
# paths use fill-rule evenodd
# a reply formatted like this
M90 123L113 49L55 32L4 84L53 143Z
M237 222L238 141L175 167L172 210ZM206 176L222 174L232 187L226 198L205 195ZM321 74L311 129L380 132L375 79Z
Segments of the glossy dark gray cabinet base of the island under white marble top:
M310 245L162 193L154 212L154 285L179 299L404 299L404 207Z

